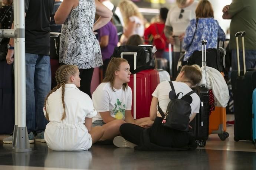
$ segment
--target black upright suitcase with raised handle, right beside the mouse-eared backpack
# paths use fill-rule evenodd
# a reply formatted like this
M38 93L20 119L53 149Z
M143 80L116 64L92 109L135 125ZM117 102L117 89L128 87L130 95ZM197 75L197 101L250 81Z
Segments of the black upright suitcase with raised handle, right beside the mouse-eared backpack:
M202 40L202 46L206 50L206 40ZM204 55L204 61L202 61L202 65L206 69L206 53ZM191 136L194 136L196 139L197 144L200 147L204 147L206 145L206 140L209 136L209 114L210 114L210 107L209 107L209 91L206 87L200 87L200 112L197 113L196 117L190 122L190 126L192 129L189 129L189 133Z

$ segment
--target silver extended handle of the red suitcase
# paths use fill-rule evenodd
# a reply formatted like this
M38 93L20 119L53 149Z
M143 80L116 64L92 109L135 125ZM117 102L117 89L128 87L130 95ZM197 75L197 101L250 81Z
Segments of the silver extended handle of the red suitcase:
M134 70L137 67L137 52L121 52L123 55L134 55ZM133 118L136 119L136 74L133 75Z

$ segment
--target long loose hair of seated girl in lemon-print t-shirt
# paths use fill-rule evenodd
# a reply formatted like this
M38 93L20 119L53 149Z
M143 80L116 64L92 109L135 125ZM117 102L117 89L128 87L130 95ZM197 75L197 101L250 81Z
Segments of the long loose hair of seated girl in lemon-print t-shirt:
M124 58L112 58L109 61L108 67L106 69L105 78L102 81L102 82L110 82L110 86L113 91L115 91L114 90L115 71L118 71L120 69L120 65L122 62L128 63L128 61ZM127 86L128 86L127 83L123 83L123 90L125 90Z

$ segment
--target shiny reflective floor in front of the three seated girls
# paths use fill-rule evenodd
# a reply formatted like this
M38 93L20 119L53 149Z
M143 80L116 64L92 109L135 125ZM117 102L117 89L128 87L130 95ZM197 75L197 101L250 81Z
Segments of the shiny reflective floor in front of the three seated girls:
M227 115L229 119L233 119L233 115ZM89 151L82 152L55 152L48 149L46 143L36 142L30 144L32 152L15 153L12 145L2 143L5 136L0 136L0 169L256 169L252 142L234 142L233 126L228 126L227 132L230 136L225 141L213 134L204 148L182 152L143 152L112 145L93 145Z

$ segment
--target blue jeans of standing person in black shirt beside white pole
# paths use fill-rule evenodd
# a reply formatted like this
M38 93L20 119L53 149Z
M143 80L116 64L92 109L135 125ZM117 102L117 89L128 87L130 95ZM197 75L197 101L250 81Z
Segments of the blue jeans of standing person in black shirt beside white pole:
M26 122L29 133L45 130L47 120L43 114L43 106L50 90L49 55L26 53Z

